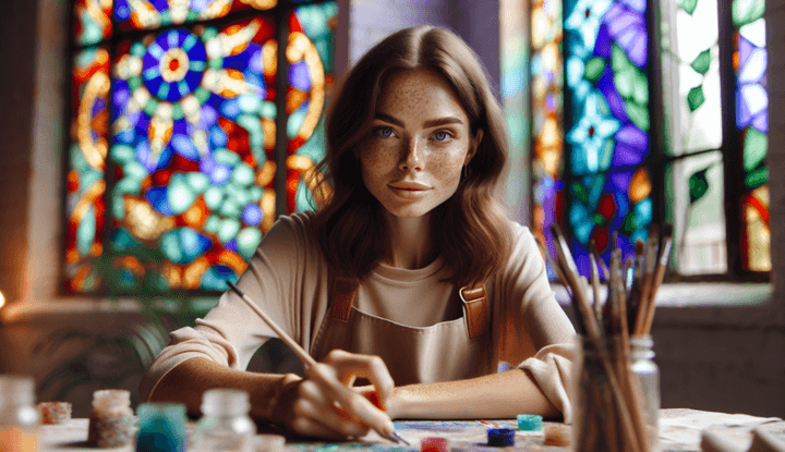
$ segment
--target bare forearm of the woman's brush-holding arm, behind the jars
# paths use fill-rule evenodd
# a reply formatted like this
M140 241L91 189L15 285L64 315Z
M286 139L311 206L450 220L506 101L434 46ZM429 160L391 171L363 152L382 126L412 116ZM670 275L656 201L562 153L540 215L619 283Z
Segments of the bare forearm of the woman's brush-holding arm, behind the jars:
M191 416L198 416L202 394L213 388L244 390L251 398L251 417L277 424L275 407L283 387L300 377L287 374L255 374L237 370L209 359L194 357L180 363L156 386L150 402L184 403Z

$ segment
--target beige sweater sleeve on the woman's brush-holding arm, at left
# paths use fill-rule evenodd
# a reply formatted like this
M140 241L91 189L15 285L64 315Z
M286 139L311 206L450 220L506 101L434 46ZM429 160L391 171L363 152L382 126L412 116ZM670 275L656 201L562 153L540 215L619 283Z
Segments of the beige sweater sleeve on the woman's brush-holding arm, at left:
M292 337L302 311L291 300L292 288L302 276L300 235L292 219L277 221L238 281L238 286ZM184 327L169 334L169 345L142 379L142 400L149 399L156 384L171 369L193 357L244 370L256 350L276 335L237 294L225 292L203 319L196 319L193 328Z

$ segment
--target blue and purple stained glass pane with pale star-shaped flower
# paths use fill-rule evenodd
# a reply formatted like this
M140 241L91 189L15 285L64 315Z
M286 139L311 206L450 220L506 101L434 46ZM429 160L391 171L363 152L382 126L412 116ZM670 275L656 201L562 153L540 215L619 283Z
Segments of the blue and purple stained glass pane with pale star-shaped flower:
M589 244L608 260L618 232L625 255L652 221L647 3L566 2L567 87L571 115L566 222L579 269Z

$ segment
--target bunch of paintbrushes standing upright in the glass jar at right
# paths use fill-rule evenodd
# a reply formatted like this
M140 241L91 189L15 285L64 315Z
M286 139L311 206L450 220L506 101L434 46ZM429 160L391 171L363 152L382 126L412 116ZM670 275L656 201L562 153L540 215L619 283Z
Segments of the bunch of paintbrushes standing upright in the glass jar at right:
M632 334L649 334L651 331L656 292L663 282L671 254L673 227L664 225L661 242L659 227L652 224L645 242L636 240L635 259L628 256L626 260L623 260L623 249L617 246L618 237L614 233L609 244L609 268L599 257L594 242L590 241L593 309L567 240L557 225L552 225L552 231L558 261L554 262L544 245L539 245L559 279L572 292L576 327L590 341L584 346L595 350L600 358L590 366L591 369L583 369L583 372L595 375L595 384L591 389L600 392L592 393L592 406L585 408L585 415L592 416L594 423L601 423L599 419L604 422L602 425L583 426L587 435L582 444L601 444L601 448L618 452L649 451L650 433L642 417L640 394L633 381L636 376L629 368L629 339ZM601 270L605 271L607 284L607 300L602 308L599 303ZM612 356L612 352L615 355Z

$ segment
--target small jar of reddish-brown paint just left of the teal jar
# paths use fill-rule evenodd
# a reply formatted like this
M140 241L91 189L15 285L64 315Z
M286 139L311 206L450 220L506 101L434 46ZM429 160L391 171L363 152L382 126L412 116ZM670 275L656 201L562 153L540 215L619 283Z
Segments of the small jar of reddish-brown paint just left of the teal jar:
M95 448L120 448L133 438L131 392L105 389L93 393L87 442Z

